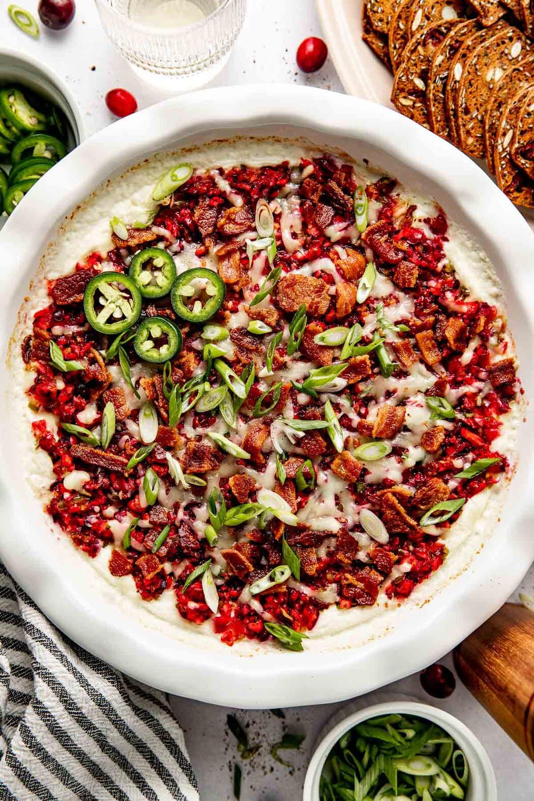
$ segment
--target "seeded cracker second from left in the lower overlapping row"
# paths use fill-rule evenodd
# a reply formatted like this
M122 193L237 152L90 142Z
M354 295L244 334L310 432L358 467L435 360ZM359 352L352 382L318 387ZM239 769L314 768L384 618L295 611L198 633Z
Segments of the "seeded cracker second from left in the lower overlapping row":
M455 54L460 50L465 40L480 30L479 23L474 19L458 22L449 31L444 41L434 53L432 64L428 70L427 81L427 110L428 122L432 131L442 139L450 138L447 110L445 107L445 87L447 86L448 72Z

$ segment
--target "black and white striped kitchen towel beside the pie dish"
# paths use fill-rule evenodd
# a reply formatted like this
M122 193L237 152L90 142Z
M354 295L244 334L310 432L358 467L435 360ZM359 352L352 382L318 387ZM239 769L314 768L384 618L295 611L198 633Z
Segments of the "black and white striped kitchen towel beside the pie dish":
M0 798L199 799L164 694L61 634L2 564Z

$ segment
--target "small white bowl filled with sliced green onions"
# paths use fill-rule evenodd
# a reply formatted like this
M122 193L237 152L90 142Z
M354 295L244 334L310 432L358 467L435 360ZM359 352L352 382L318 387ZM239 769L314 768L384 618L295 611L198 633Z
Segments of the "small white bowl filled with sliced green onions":
M496 779L472 731L428 704L367 706L321 739L304 801L497 801Z

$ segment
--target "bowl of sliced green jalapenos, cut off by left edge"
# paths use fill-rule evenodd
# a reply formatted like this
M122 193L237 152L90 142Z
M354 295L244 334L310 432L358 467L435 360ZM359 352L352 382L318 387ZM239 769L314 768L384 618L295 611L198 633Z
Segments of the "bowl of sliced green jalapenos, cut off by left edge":
M60 79L26 55L0 50L2 216L82 138L74 97Z

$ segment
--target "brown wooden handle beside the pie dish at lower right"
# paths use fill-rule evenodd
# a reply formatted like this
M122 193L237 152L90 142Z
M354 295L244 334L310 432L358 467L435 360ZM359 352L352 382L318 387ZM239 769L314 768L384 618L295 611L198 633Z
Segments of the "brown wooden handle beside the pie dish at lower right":
M468 690L534 760L534 614L506 603L454 651Z

